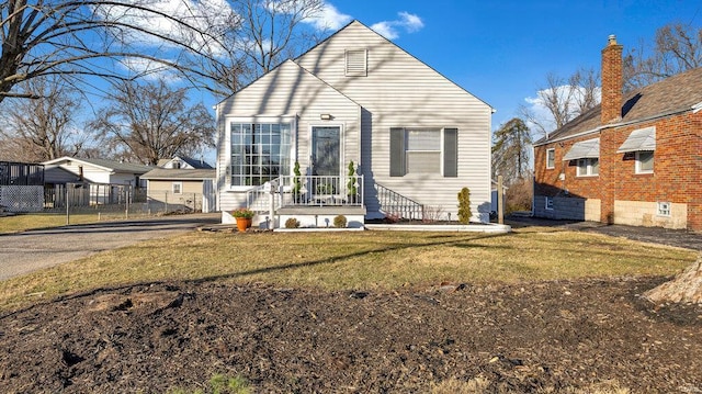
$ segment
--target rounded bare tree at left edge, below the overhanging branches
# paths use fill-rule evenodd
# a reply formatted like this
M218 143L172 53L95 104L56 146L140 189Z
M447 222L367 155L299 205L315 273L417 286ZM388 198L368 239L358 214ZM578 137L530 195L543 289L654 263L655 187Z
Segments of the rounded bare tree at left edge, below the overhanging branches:
M20 83L21 92L42 99L2 102L0 138L5 156L19 161L45 161L76 156L95 139L76 122L81 95L56 76L33 78Z

